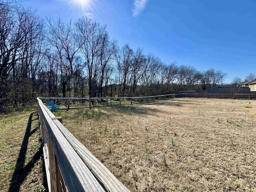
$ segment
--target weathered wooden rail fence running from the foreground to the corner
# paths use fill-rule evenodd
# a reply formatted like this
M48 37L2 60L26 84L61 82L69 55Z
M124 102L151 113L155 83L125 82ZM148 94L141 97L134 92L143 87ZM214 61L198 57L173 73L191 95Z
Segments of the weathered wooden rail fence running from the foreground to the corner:
M129 190L37 98L49 192Z

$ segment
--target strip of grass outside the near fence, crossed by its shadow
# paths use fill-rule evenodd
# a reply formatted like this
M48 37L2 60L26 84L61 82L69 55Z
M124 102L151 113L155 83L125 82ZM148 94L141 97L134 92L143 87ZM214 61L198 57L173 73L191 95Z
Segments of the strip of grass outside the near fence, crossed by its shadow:
M0 192L43 192L37 110L0 115Z

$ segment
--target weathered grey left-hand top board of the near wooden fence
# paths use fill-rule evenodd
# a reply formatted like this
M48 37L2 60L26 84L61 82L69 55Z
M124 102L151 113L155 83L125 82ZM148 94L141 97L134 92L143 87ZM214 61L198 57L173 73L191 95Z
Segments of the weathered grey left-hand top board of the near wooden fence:
M90 170L75 152L55 125L42 101L38 99L38 112L42 114L42 121L47 130L48 142L52 144L56 161L58 162L69 192L104 192L104 189L94 178ZM57 120L58 121L58 120ZM50 153L50 152L49 152ZM50 160L50 167L51 165ZM56 166L56 165L55 165ZM57 176L56 176L57 177ZM52 186L52 184L51 184ZM58 191L61 191L58 189Z

